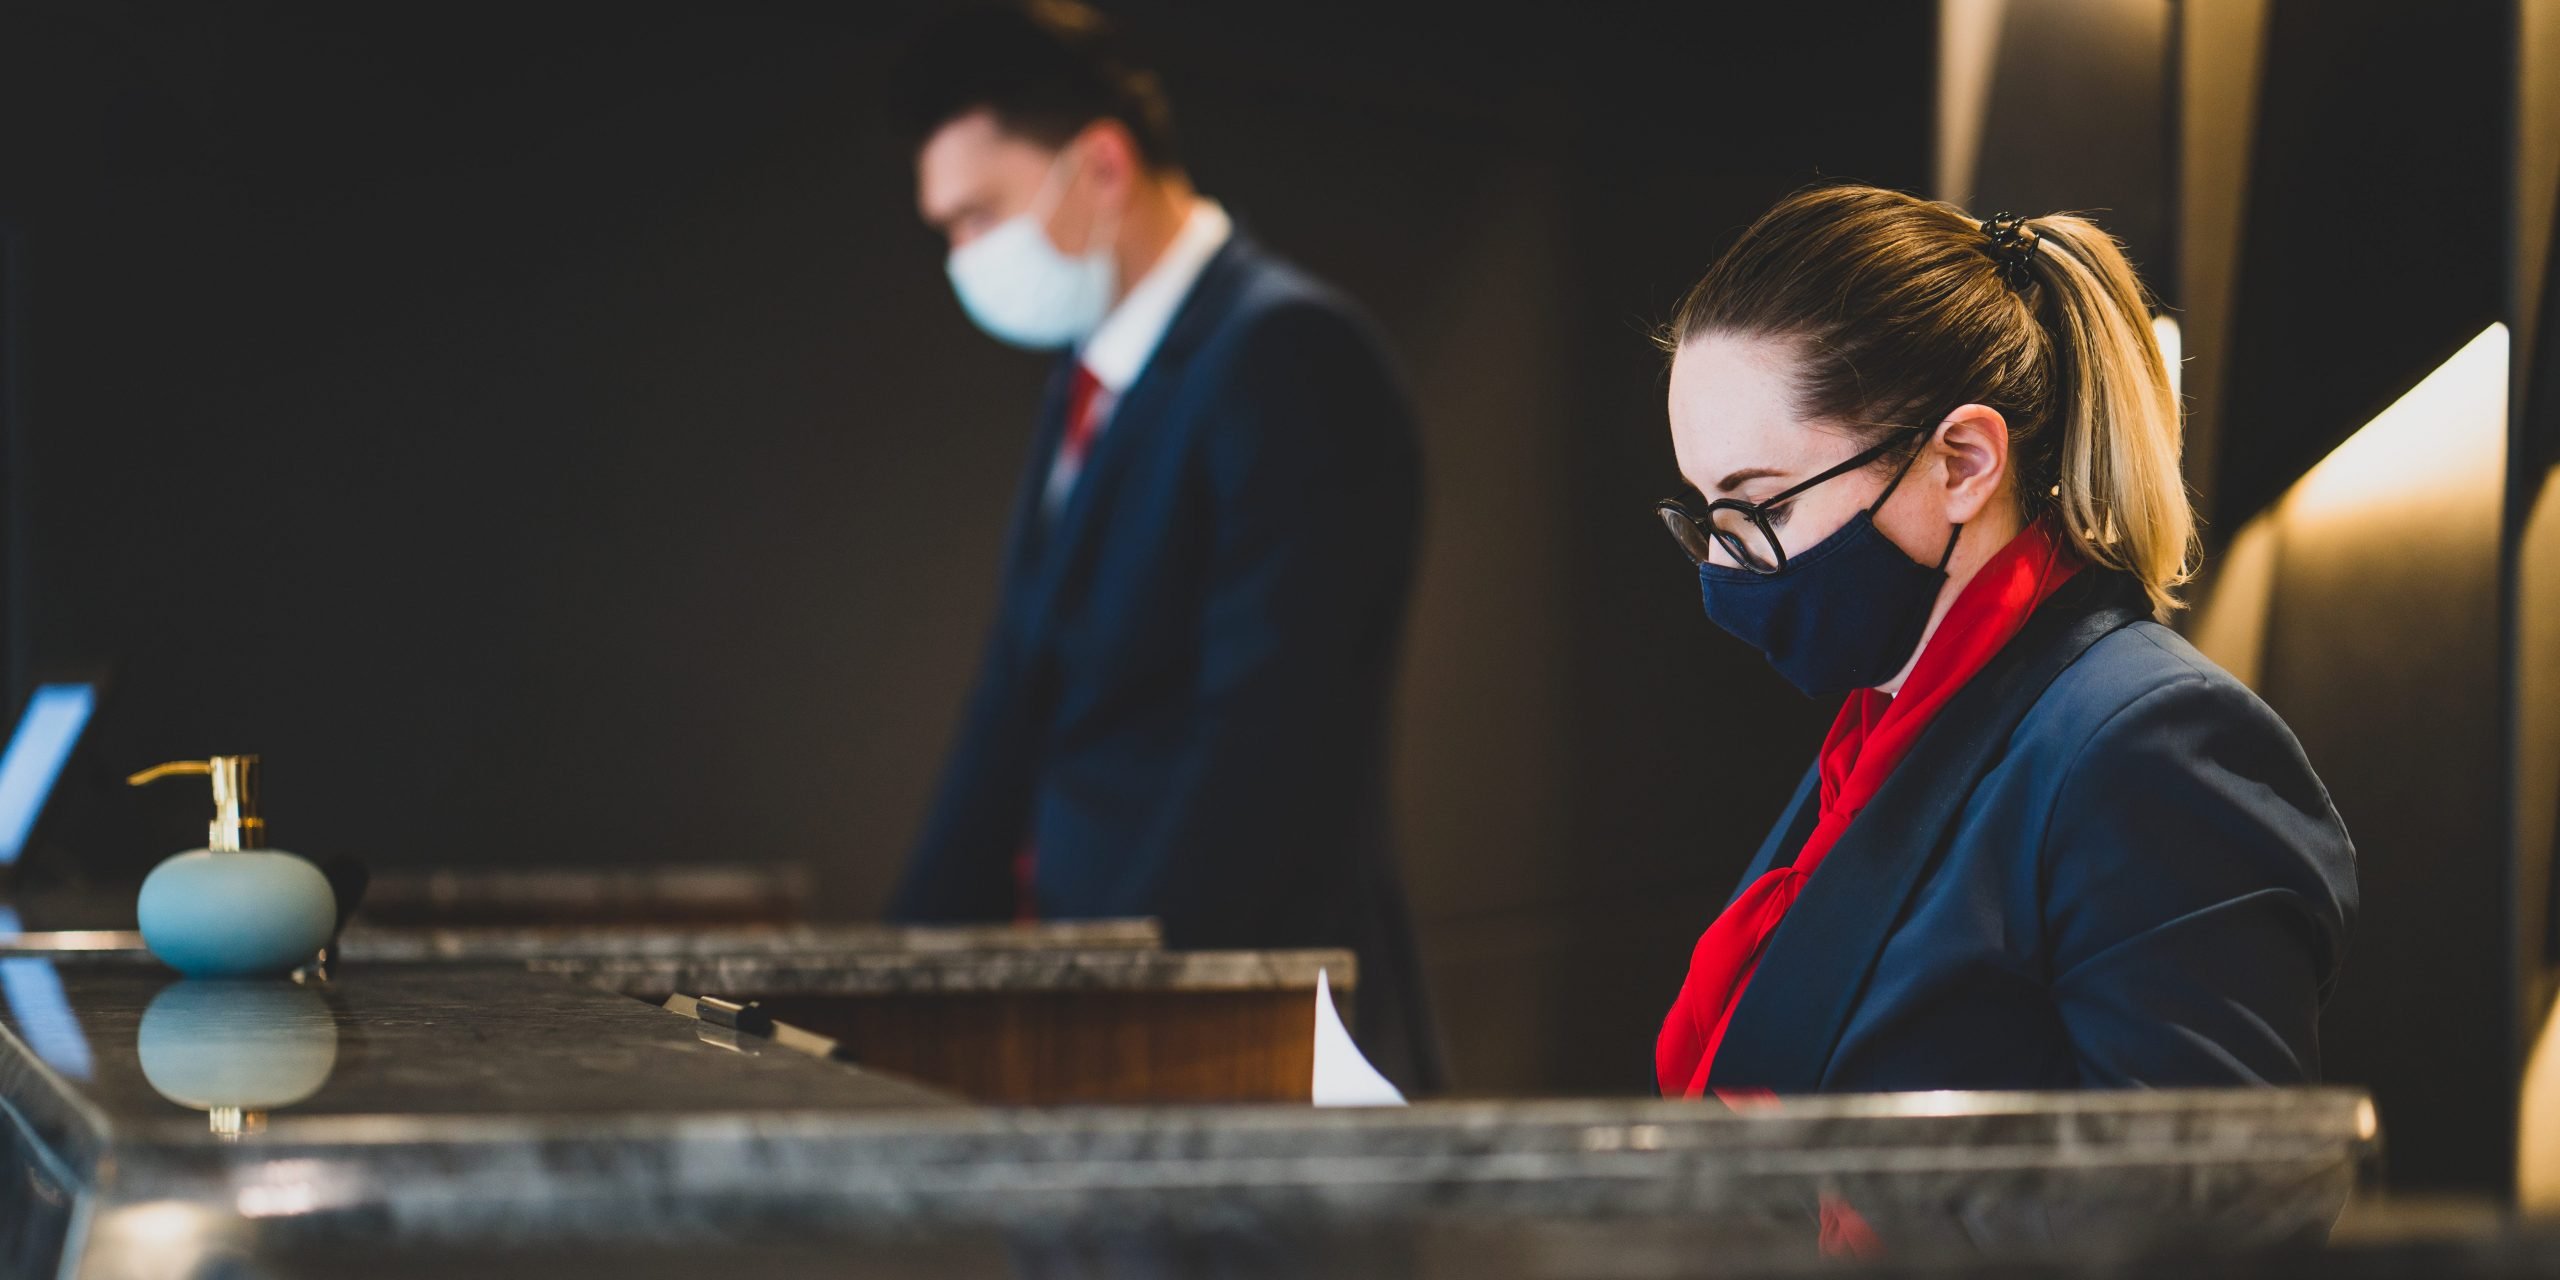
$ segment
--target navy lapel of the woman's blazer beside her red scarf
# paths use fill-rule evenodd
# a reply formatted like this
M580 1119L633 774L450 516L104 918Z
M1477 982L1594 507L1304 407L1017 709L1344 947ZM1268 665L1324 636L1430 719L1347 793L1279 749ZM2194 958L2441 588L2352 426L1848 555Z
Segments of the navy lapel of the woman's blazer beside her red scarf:
M1715 1050L1710 1088L1810 1093L1823 1085L1876 955L1946 847L1974 783L2053 676L2102 635L2143 617L2150 612L2130 579L2089 568L1948 699L1769 937Z

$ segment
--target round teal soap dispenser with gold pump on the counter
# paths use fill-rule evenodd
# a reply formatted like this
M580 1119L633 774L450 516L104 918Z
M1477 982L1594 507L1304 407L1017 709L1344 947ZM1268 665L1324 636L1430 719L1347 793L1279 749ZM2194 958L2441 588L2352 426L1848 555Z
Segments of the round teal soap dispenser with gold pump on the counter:
M174 776L212 778L212 832L143 881L143 945L189 978L279 975L312 960L338 932L338 899L320 868L266 847L259 758L177 760L125 781Z

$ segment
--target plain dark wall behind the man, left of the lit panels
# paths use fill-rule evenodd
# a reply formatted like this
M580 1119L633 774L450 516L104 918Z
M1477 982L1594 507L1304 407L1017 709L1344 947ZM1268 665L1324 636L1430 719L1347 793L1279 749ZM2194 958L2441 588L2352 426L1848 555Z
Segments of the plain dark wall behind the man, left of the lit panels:
M87 781L259 750L287 847L876 911L1042 374L873 128L906 10L0 10L10 684L113 663ZM1649 1088L1823 709L1646 517L1646 330L1784 189L1925 179L1930 5L1114 10L1423 412L1398 796L1459 1083Z

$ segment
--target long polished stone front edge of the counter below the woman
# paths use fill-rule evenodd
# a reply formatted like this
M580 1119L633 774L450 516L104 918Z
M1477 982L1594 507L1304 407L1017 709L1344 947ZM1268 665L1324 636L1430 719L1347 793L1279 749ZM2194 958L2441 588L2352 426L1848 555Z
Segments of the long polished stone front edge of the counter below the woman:
M259 1142L120 1152L95 1221L200 1219L230 1247L279 1257L612 1252L637 1234L696 1260L788 1244L886 1262L914 1260L901 1252L914 1244L922 1257L1055 1257L1060 1275L1121 1272L1096 1270L1096 1252L1208 1249L1254 1275L1242 1262L1303 1262L1272 1257L1275 1242L1370 1254L1531 1229L1585 1249L1651 1234L1702 1249L1692 1262L1743 1270L1810 1262L1825 1226L1848 1221L1907 1262L2130 1260L2317 1242L2353 1193L2363 1147L2340 1124L2355 1108L2353 1096L2150 1096L1938 1098L1920 1111L1848 1098L1746 1116L1659 1101L801 1111L760 1124L707 1111L686 1124L340 1116L287 1129L276 1116Z

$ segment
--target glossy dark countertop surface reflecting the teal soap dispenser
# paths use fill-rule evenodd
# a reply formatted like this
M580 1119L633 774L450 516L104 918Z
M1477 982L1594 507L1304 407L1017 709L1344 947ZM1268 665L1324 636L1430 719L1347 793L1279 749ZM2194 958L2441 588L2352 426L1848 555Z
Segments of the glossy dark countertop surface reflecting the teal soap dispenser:
M955 1108L957 1098L788 1052L740 1052L663 1009L507 965L361 980L187 980L141 968L0 970L0 1098L72 1167L105 1149L264 1152L381 1124L540 1129L722 1114ZM248 1137L215 1134L241 1108ZM264 1124L261 1124L264 1119Z

